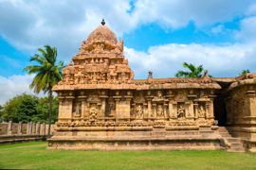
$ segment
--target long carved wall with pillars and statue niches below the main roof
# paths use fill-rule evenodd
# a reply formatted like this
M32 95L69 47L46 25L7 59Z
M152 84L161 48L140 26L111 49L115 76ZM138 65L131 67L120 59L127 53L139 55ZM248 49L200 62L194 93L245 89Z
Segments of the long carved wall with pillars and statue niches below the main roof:
M58 127L210 127L212 96L201 90L82 90L59 93Z

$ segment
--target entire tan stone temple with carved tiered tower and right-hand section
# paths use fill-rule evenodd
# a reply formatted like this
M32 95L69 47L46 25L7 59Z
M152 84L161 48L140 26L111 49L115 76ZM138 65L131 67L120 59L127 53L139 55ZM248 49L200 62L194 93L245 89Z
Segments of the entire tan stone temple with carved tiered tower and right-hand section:
M135 79L123 41L102 22L54 87L48 148L256 151L256 75Z

